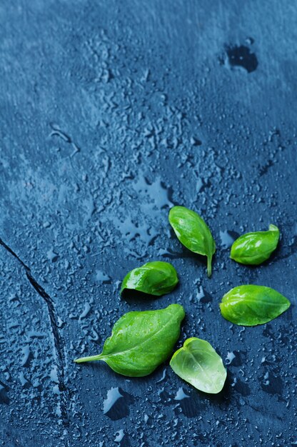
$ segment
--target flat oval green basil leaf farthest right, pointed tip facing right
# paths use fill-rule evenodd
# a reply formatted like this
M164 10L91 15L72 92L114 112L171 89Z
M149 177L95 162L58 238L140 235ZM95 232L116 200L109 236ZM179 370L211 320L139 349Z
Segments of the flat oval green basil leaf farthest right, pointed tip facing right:
M268 323L291 303L281 293L265 286L238 286L228 291L220 303L223 318L240 326Z

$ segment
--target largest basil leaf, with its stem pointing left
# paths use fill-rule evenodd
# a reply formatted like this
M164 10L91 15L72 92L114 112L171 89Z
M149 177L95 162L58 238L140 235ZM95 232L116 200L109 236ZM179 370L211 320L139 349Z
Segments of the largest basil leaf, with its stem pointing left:
M184 316L179 304L158 311L125 313L116 321L101 354L75 362L103 360L124 376L147 376L170 355Z

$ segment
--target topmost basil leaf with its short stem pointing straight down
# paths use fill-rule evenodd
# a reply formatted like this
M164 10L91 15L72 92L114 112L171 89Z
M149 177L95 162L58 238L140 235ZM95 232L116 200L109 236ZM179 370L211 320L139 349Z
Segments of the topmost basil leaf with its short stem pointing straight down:
M207 274L211 276L211 259L216 251L216 243L203 219L184 206L173 206L169 211L169 223L186 248L207 256Z

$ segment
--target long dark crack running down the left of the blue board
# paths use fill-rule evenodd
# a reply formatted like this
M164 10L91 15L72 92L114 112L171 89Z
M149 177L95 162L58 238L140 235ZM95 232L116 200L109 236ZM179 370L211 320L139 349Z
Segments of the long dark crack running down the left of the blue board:
M58 325L56 322L56 314L55 314L55 307L54 307L54 301L49 296L49 293L46 293L44 288L36 281L34 276L31 273L31 269L29 266L27 266L24 261L17 256L16 253L0 238L0 245L3 246L6 251L11 253L14 258L21 264L21 266L24 268L26 272L26 277L29 280L29 283L31 283L31 286L34 287L35 291L41 296L41 298L44 300L47 306L47 310L49 313L49 321L51 323L51 333L54 340L54 352L56 355L56 363L57 363L57 376L58 376L58 386L60 391L60 411L61 411L61 421L64 423L64 426L69 425L69 418L67 415L67 399L66 399L66 393L67 391L66 385L65 385L65 370L64 370L64 363L65 363L65 356L64 356L64 341L60 336Z

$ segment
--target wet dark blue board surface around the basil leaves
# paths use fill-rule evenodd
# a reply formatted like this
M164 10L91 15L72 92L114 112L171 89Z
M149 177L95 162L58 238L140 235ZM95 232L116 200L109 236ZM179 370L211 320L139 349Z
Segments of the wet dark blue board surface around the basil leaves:
M293 0L1 1L1 445L297 445L296 21ZM211 279L170 231L173 204L210 226ZM268 224L268 262L229 260ZM121 300L156 259L180 286ZM234 326L218 302L241 283L293 305ZM218 396L168 364L133 379L72 362L123 313L174 302L178 346L205 338L228 368Z

